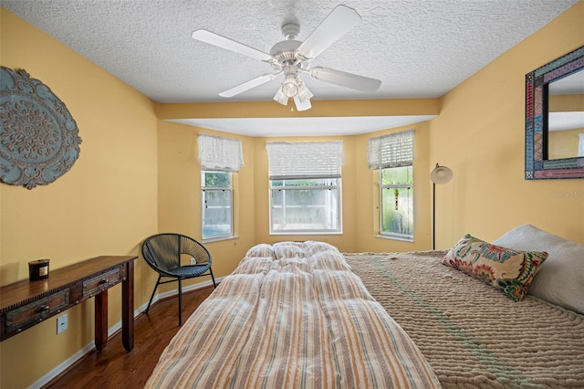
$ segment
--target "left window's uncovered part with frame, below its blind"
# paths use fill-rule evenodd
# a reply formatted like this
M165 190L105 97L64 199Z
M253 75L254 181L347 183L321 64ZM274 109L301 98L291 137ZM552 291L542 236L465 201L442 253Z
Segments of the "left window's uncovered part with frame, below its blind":
M229 172L201 172L203 239L232 237L233 187Z

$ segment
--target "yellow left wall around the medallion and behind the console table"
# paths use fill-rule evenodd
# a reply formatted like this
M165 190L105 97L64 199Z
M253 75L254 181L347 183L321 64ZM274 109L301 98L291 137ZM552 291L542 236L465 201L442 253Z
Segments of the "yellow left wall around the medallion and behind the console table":
M0 8L1 64L43 81L78 124L78 161L52 184L0 184L0 283L28 278L27 263L50 269L99 255L138 255L157 232L157 118L151 100ZM151 270L136 261L136 307L147 301ZM110 290L110 326L120 322L120 286ZM93 301L0 343L0 387L35 383L93 340Z

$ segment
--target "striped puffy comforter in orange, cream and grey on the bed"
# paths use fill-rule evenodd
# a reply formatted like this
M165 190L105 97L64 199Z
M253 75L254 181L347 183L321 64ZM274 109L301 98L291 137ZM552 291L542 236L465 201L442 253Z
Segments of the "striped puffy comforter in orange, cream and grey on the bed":
M418 347L322 242L252 247L146 387L440 387Z

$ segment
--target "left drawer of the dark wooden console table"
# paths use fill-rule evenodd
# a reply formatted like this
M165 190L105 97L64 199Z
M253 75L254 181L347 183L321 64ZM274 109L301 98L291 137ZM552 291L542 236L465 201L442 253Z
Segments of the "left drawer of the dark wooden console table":
M43 321L65 310L69 305L69 289L59 290L43 299L6 312L6 333L21 331L29 324Z

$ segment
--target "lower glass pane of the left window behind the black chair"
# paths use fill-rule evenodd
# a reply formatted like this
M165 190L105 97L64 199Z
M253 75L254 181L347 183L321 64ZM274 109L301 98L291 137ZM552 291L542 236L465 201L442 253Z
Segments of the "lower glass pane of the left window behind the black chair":
M203 190L203 238L233 233L231 194L230 190Z

